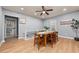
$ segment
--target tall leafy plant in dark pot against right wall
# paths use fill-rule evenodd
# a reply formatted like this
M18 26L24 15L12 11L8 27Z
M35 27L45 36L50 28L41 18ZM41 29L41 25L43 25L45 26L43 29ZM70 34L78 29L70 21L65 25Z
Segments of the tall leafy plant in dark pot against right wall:
M71 27L74 29L76 36L74 37L74 39L76 41L79 41L79 37L78 37L78 29L79 29L79 21L72 19L72 24Z

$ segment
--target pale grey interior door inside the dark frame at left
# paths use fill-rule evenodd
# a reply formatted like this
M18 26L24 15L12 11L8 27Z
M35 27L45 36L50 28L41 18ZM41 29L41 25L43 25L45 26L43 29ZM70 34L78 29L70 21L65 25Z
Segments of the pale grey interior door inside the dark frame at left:
M6 17L6 38L17 37L17 19Z

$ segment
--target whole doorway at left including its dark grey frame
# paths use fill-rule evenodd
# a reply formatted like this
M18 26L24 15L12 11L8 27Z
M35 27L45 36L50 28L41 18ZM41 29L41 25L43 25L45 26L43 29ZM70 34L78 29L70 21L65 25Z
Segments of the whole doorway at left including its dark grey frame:
M18 38L18 17L5 15L5 40Z

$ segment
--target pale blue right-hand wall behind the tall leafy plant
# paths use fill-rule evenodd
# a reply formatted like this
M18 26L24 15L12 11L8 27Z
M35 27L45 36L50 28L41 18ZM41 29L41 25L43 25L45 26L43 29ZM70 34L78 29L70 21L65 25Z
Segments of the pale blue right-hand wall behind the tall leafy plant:
M70 20L73 18L79 20L78 11L69 13L69 14L64 14L64 15L57 16L57 17L53 17L51 19L47 19L44 21L44 24L48 25L48 23L49 23L50 25L48 25L48 26L50 26L50 27L52 27L51 24L56 24L56 28L57 28L57 31L59 32L60 36L73 38L75 36L75 34L74 34L72 28L70 27L70 25L60 25L60 21ZM56 22L55 22L55 20L56 20Z

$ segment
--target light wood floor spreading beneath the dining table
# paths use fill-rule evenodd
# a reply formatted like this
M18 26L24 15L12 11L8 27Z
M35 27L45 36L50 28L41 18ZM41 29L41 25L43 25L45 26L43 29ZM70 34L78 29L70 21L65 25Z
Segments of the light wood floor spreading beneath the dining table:
M33 46L32 40L7 40L0 47L1 53L79 53L79 41L59 38L59 41L51 48L41 47L38 51L37 47Z

